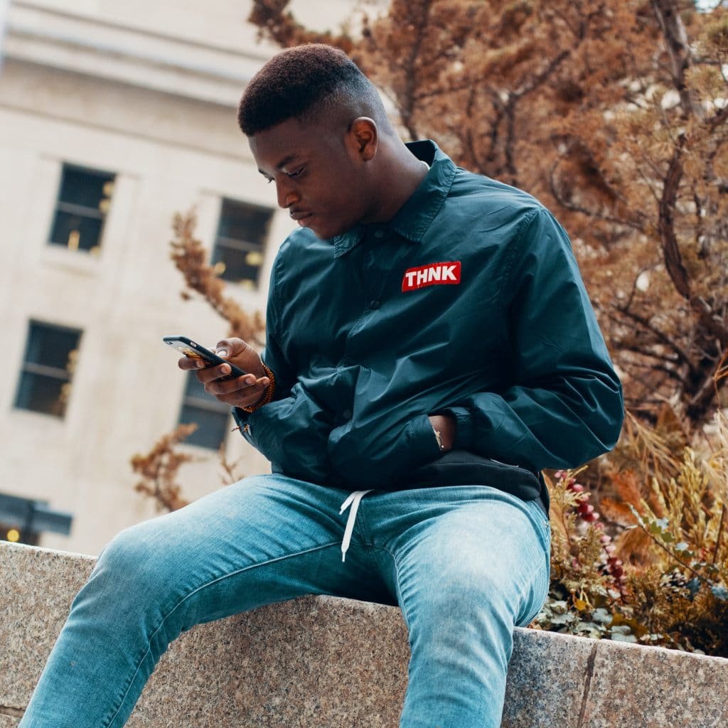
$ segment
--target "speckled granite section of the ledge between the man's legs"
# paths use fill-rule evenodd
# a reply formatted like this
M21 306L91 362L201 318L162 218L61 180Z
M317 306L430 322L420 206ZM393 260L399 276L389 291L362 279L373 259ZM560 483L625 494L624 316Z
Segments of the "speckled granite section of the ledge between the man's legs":
M397 609L326 597L199 625L159 663L130 727L391 728L408 647ZM175 724L172 721L170 724Z

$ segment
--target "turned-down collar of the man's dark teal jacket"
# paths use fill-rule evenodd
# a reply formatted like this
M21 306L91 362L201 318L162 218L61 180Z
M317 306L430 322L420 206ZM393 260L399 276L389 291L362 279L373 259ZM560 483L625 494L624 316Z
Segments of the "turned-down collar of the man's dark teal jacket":
M410 142L406 146L417 159L430 165L430 172L397 214L387 223L377 223L376 227L389 229L411 242L421 242L448 196L457 167L430 139ZM368 227L371 226L355 225L347 232L331 238L333 256L339 258L348 253L364 239Z

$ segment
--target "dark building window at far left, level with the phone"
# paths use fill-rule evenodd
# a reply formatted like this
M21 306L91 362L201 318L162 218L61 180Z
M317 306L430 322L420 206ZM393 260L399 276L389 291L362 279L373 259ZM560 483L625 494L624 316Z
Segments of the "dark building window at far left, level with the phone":
M66 414L81 332L31 321L15 407Z

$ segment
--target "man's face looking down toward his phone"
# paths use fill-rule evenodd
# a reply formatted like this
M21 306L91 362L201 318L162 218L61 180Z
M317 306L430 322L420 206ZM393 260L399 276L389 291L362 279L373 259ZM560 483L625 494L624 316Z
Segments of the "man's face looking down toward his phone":
M327 239L366 221L365 162L352 134L288 119L248 142L258 170L276 186L278 205L301 227Z

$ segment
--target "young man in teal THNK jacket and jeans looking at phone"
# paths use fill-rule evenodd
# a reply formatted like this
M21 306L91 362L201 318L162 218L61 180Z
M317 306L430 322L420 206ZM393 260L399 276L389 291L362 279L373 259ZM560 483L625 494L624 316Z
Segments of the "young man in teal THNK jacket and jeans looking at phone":
M603 453L622 422L566 234L435 143L405 146L329 47L273 58L239 121L300 229L264 355L221 341L249 374L197 376L272 475L119 534L20 726L119 728L182 630L312 593L401 607L402 728L499 726L513 628L549 583L539 470Z

